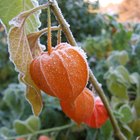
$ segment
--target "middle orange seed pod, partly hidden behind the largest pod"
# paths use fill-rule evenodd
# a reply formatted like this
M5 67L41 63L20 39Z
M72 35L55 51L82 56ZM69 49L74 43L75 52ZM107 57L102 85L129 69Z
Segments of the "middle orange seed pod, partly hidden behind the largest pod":
M74 102L60 102L64 113L80 124L85 119L91 116L94 109L93 93L85 88Z

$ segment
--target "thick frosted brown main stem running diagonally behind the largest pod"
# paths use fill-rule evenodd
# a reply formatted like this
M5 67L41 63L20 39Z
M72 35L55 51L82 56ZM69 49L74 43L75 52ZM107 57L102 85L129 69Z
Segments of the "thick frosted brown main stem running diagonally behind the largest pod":
M72 46L77 46L77 43L72 35L72 32L69 28L69 25L67 24L66 20L64 19L63 15L62 15L62 12L57 4L57 1L52 0L52 1L50 1L50 4L51 4L50 7L51 7L54 15L56 16L56 19L58 20L59 24L61 25L61 28L62 28L65 36L67 37L68 42ZM93 73L90 69L89 69L89 80L90 80L91 84L94 86L97 93L99 94L101 100L103 101L103 103L108 111L110 121L111 121L113 129L114 129L114 135L119 140L127 140L118 126L118 123L117 123L117 121L116 121L116 119L111 111L110 105L108 103L108 100L104 94L104 91L103 91L101 85L98 83L98 81L96 80L95 76L93 75Z

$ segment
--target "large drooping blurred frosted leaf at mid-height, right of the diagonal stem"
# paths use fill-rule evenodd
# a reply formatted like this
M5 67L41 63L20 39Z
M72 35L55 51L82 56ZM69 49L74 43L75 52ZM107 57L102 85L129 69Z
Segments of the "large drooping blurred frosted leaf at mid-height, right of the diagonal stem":
M127 89L130 87L130 76L127 69L120 65L115 69L111 67L104 78L107 79L107 87L112 95L120 99L128 99Z

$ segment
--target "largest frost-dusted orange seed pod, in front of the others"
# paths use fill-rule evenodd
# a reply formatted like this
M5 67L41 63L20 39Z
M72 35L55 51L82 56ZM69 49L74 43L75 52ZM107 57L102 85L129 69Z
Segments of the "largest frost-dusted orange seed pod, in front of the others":
M60 100L74 101L88 81L88 65L77 47L61 43L42 53L30 65L35 84L49 95Z

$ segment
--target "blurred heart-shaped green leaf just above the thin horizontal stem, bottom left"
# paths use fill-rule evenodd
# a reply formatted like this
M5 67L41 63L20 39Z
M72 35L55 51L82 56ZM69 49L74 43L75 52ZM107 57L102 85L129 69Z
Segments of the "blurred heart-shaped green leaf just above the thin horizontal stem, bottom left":
M19 135L33 133L40 129L40 120L35 116L30 116L25 121L16 120L14 122L14 128Z

